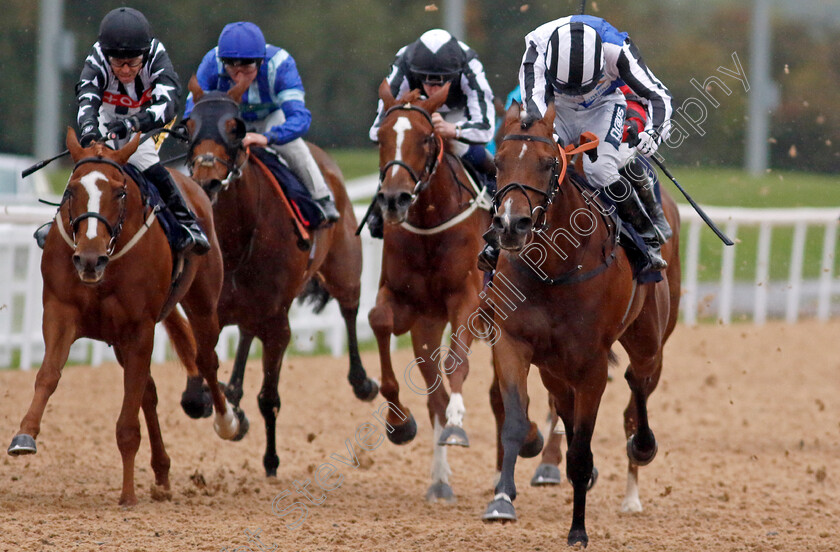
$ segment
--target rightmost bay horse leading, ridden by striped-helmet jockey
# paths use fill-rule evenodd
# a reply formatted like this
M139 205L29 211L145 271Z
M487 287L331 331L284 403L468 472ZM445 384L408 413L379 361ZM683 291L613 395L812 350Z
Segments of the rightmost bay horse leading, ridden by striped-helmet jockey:
M679 214L663 192L674 229L662 246L668 268L660 282L638 283L618 246L615 225L600 210L604 208L593 205L591 194L581 193L566 174L570 153L552 139L554 118L553 104L542 119L532 119L514 103L505 115L505 137L496 154L499 192L493 228L504 250L498 273L527 299L507 318L494 317L501 336L493 345L498 390L492 402L503 454L496 494L484 519L516 519L516 457L535 455L542 448L542 436L528 417L527 374L534 364L566 430L566 474L574 488L568 543L585 546L586 493L594 477L590 443L616 341L630 358L625 378L631 398L624 411L628 494L635 489L637 466L656 455L647 399L659 381L662 348L677 321ZM537 241L551 242L542 246L541 275L533 268L533 256L529 263L518 254Z

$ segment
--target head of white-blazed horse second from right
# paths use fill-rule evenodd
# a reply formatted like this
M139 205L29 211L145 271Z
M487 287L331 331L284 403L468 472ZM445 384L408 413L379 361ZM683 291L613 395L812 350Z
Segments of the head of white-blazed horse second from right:
M404 222L408 208L428 185L443 155L443 140L435 134L431 113L443 105L447 83L421 100L412 90L394 99L387 81L379 86L383 116L379 139L379 191L376 202L385 222Z

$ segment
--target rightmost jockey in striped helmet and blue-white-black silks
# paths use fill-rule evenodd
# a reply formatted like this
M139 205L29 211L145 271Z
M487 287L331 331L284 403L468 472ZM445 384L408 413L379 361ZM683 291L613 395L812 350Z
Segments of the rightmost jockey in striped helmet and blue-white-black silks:
M545 114L548 102L554 102L554 131L562 144L576 142L584 131L598 136L597 159L583 159L586 177L606 192L619 216L644 239L648 268L664 269L667 262L662 258L656 227L636 187L619 174L626 161L619 148L627 110L619 87L628 85L649 114L636 146L646 157L667 137L670 92L642 61L627 33L618 32L600 17L573 15L551 21L529 33L525 45L519 70L523 109L535 119ZM645 203L655 202L651 186L642 185L638 190L649 195Z

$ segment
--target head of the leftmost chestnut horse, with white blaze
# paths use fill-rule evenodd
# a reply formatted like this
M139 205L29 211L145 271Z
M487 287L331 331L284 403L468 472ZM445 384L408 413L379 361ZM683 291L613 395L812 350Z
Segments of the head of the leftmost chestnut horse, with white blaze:
M122 166L137 150L137 134L125 147L112 150L102 143L83 148L72 128L67 149L76 164L62 200L73 247L73 266L86 284L102 280L126 218L127 177ZM61 224L64 225L62 217Z

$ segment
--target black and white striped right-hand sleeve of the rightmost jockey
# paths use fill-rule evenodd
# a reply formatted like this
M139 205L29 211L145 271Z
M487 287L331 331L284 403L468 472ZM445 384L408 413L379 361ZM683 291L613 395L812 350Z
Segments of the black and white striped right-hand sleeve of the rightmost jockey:
M645 130L664 130L671 119L671 93L645 65L636 45L628 38L621 46L616 61L618 75L647 104L649 117Z

